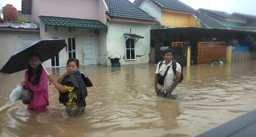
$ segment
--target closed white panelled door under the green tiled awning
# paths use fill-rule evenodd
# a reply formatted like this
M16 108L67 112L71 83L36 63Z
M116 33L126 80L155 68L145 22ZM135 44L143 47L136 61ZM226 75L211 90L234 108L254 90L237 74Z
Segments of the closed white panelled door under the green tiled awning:
M83 38L82 45L83 45L84 65L96 64L95 39L94 38Z

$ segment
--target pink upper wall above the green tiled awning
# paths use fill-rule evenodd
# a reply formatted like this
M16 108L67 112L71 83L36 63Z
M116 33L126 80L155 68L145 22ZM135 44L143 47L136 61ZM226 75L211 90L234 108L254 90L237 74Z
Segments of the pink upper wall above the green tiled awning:
M104 0L32 0L31 10L32 20L36 22L38 16L95 19L104 24L107 22Z

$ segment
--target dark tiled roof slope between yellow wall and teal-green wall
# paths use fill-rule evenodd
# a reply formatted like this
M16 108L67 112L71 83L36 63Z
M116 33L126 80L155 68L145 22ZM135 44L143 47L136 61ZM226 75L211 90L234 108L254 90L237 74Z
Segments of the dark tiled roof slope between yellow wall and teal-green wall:
M215 21L212 17L207 16L206 14L199 12L198 19L201 20L201 24L206 28L228 28L225 25Z

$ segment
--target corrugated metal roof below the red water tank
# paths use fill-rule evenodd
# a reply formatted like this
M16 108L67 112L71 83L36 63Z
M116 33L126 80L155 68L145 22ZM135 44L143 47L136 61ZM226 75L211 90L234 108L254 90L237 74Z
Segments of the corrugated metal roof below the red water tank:
M0 22L0 28L38 29L39 25L35 22Z

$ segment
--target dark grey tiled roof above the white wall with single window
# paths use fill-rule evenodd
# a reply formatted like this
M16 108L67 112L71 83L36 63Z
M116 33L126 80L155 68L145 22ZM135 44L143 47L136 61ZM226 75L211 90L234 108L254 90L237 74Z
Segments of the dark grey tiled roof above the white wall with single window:
M128 0L105 0L111 17L155 21L155 18Z

